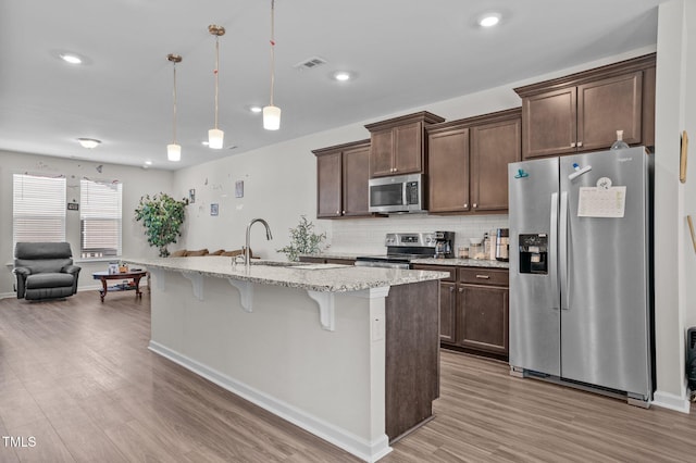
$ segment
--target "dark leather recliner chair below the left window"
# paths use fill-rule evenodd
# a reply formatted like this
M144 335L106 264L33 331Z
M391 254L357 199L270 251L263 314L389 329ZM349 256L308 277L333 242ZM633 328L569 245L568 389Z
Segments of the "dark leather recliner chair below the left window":
M80 267L73 265L69 242L17 242L14 274L17 299L55 299L77 292Z

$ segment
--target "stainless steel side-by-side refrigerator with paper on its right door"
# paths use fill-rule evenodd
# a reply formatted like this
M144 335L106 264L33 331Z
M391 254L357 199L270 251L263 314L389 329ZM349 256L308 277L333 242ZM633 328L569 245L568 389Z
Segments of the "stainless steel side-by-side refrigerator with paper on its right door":
M651 400L651 154L509 164L511 374Z

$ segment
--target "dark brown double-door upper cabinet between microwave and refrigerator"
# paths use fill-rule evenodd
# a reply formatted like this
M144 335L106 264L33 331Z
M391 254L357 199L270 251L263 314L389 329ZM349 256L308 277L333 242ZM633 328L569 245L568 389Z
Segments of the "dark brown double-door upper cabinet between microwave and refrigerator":
M507 211L508 163L521 159L520 111L427 128L431 214Z

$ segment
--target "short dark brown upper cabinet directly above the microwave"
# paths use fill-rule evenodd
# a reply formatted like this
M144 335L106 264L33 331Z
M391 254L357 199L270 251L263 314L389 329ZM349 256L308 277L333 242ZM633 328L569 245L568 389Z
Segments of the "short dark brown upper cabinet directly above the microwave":
M424 129L444 121L422 111L365 125L371 134L370 178L425 173L427 140Z

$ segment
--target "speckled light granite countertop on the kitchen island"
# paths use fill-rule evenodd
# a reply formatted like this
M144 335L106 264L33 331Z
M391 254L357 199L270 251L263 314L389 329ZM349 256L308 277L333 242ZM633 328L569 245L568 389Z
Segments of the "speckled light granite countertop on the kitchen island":
M369 288L398 286L410 283L446 278L444 272L399 268L356 267L339 264L312 264L301 262L252 261L249 267L232 265L231 258L123 258L125 262L183 273L198 273L217 278L233 278L262 285L302 288L322 292L359 291Z

